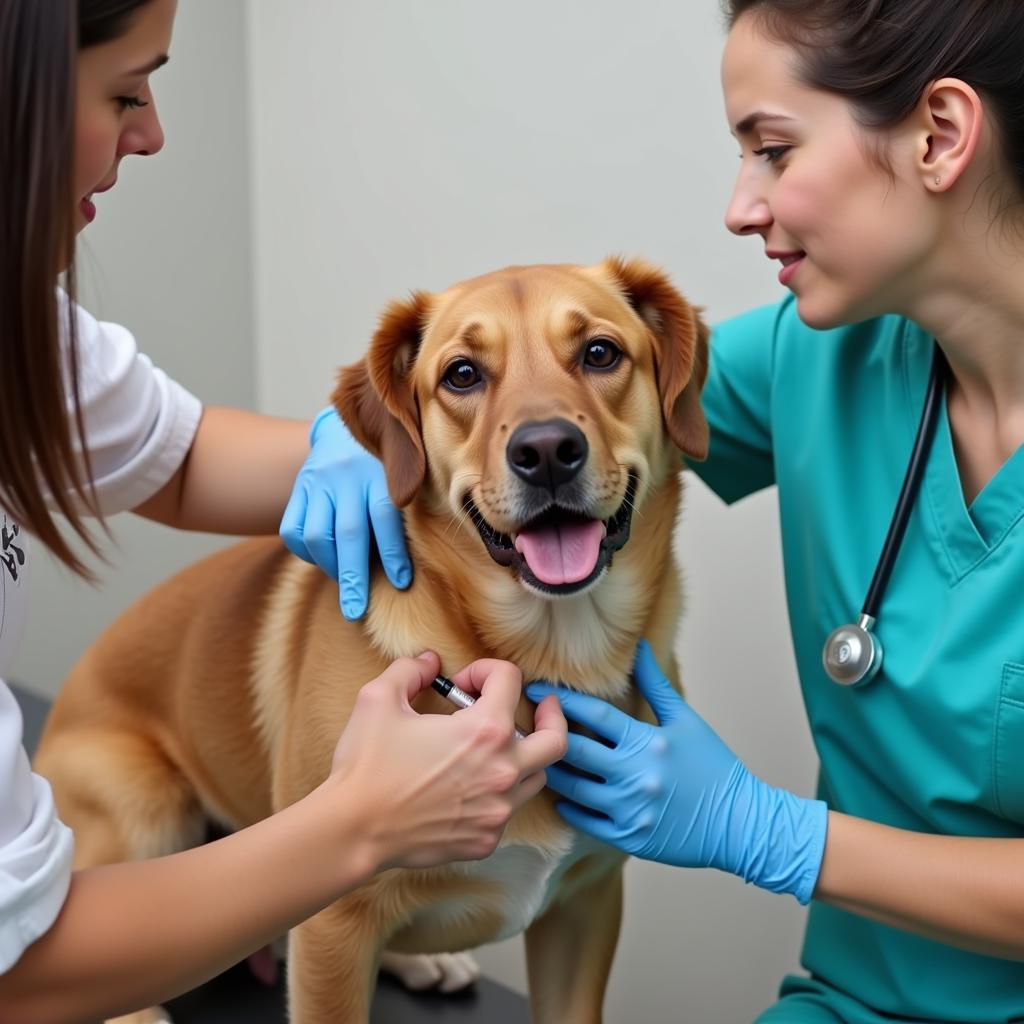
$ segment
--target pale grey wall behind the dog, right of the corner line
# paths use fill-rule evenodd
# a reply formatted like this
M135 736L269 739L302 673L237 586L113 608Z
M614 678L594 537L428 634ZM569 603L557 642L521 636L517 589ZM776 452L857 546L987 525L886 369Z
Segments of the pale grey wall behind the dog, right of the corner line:
M777 297L761 246L722 226L737 161L716 0L249 9L263 408L321 404L388 299L509 263L642 254L711 319ZM809 794L774 496L727 511L694 482L684 519L689 695L755 771ZM751 1020L802 923L732 878L634 863L607 1019ZM522 987L518 940L481 959Z

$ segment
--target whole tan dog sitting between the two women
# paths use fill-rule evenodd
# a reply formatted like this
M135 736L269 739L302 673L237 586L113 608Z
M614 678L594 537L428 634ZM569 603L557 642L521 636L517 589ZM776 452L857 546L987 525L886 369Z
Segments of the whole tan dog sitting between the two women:
M336 583L264 540L130 608L72 673L37 758L78 866L178 850L207 819L240 828L301 798L361 684L424 648L444 672L508 658L646 713L630 670L647 637L676 675L672 534L680 450L707 449L706 368L696 312L641 262L512 267L393 304L334 399L387 466L413 586L378 575L366 621L347 623ZM418 710L452 708L427 692ZM365 1022L385 946L525 930L534 1019L599 1021L624 859L544 793L486 860L386 871L296 928L291 1019Z

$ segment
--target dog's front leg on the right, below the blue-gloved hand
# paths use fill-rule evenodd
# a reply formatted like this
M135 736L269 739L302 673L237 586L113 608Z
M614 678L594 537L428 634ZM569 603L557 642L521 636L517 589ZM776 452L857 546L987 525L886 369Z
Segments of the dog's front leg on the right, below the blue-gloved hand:
M554 903L526 930L526 973L534 1024L600 1024L618 940L623 870L617 867L570 899Z

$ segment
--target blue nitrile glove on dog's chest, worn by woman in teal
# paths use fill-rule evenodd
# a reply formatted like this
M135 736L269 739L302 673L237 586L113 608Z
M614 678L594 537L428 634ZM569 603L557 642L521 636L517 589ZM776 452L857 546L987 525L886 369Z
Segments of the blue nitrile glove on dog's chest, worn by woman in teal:
M526 687L535 701L556 694L566 718L611 744L569 733L564 761L548 769L549 787L572 801L558 803L561 816L637 857L718 867L807 903L824 852L825 805L752 775L672 688L646 641L634 674L657 726L563 687Z

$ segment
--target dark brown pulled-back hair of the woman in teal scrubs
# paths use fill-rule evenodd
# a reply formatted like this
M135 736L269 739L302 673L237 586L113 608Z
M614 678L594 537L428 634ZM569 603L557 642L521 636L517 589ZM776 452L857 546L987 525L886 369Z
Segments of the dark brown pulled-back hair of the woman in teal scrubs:
M1024 198L1024 5L1020 0L724 0L792 46L802 81L846 97L865 128L910 116L928 85L957 78L982 95Z

